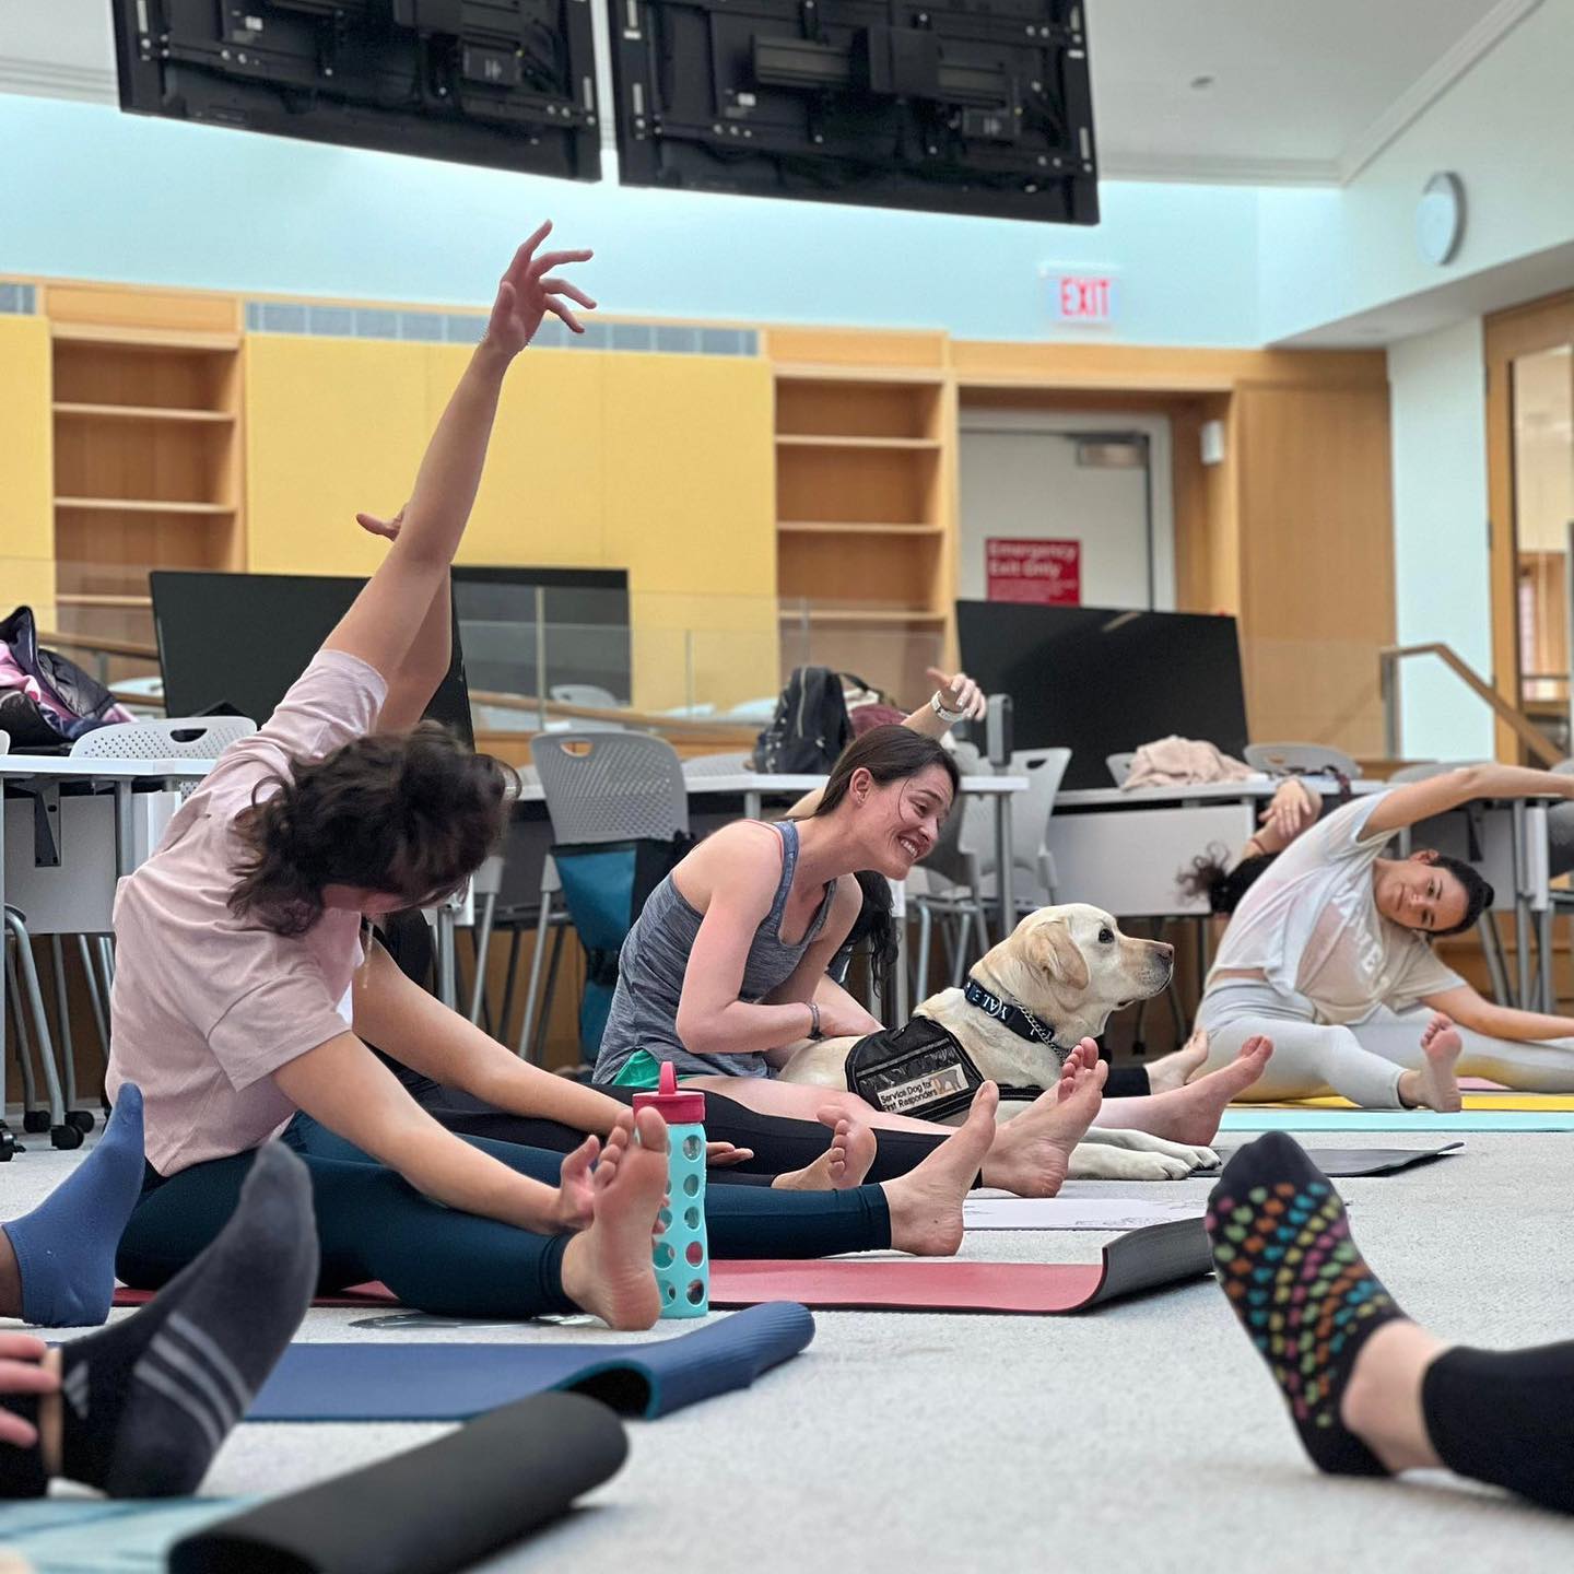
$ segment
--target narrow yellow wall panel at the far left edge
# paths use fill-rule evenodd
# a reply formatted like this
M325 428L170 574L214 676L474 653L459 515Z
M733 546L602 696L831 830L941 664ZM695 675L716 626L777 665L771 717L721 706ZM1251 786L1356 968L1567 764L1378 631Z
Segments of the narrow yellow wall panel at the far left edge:
M0 316L0 617L55 620L55 474L49 323Z

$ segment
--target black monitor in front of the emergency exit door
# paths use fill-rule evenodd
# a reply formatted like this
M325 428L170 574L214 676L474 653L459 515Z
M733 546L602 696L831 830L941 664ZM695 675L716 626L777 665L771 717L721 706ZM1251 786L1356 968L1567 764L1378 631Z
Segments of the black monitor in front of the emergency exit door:
M1011 694L1018 749L1069 748L1067 787L1108 787L1110 754L1179 733L1236 757L1247 697L1232 617L959 601L962 664Z

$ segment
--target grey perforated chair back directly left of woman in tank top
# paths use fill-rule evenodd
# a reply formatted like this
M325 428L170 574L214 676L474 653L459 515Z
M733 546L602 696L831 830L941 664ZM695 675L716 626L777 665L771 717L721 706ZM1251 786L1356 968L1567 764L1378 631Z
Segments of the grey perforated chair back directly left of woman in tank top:
M530 740L552 841L671 841L688 831L677 749L645 732L551 732Z

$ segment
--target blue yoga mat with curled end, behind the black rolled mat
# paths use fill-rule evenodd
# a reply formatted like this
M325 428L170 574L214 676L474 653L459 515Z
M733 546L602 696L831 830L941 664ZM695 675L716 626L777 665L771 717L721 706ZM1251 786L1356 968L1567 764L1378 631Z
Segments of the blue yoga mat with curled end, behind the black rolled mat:
M246 1418L463 1421L570 1388L653 1421L748 1388L812 1338L806 1308L773 1302L639 1344L291 1344Z

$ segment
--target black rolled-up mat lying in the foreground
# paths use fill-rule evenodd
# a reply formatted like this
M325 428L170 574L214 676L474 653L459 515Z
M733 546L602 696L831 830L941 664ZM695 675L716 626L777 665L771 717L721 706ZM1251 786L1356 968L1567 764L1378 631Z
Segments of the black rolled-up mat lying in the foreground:
M449 1574L557 1519L626 1456L604 1404L535 1395L187 1536L170 1574Z

